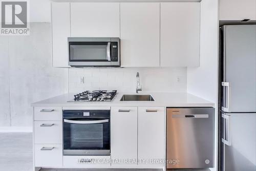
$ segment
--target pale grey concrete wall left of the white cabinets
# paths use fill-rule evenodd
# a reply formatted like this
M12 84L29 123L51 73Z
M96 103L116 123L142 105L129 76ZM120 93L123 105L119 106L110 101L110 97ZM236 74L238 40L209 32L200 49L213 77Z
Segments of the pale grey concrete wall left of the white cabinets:
M0 36L0 61L0 126L32 126L32 102L68 91L68 69L52 67L50 23Z

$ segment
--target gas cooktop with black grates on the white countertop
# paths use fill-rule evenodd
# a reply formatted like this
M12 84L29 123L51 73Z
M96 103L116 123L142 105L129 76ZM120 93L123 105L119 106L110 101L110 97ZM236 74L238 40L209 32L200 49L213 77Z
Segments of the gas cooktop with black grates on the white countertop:
M75 98L68 102L111 101L116 96L116 92L116 90L84 91L74 95Z

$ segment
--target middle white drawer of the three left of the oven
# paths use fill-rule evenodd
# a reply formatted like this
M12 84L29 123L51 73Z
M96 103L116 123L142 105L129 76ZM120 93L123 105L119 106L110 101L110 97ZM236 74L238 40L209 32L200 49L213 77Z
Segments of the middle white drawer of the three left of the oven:
M35 144L61 144L61 121L34 121Z

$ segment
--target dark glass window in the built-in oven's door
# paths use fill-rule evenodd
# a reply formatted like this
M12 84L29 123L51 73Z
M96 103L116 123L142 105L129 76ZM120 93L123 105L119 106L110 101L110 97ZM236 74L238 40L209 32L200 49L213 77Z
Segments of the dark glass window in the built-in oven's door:
M71 148L103 148L103 124L71 124Z

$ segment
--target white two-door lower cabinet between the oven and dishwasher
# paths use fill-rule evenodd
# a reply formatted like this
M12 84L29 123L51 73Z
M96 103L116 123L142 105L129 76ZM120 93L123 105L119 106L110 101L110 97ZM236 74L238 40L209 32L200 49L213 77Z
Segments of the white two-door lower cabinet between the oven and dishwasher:
M164 167L164 114L164 107L111 108L111 159L113 167ZM137 163L133 163L134 160ZM115 161L121 163L113 163Z

